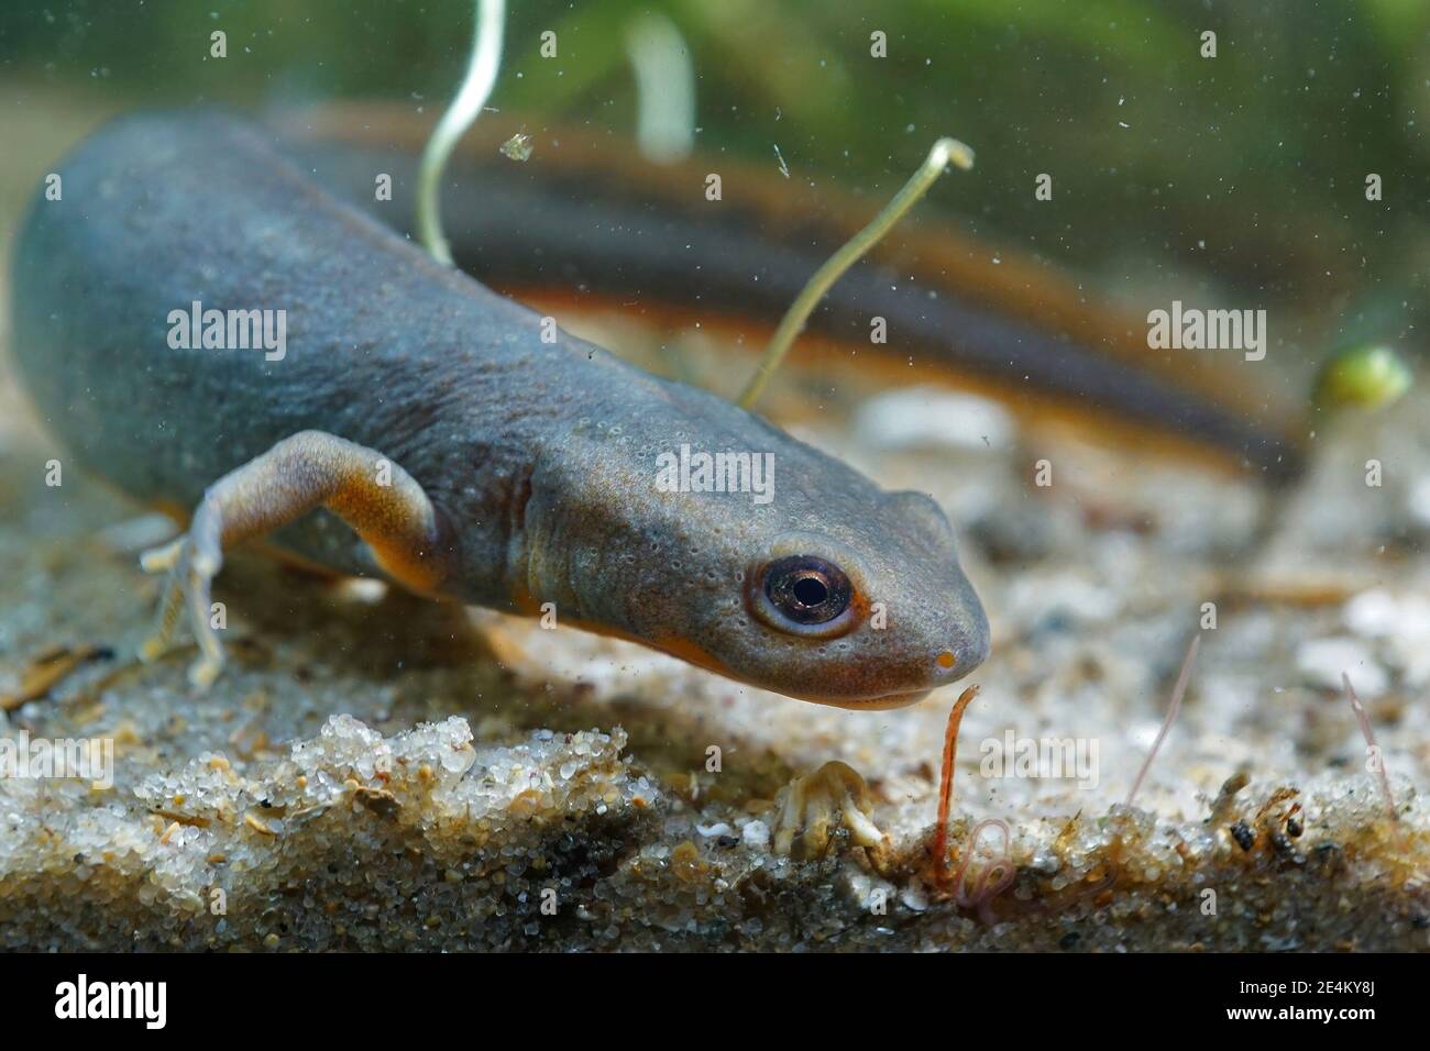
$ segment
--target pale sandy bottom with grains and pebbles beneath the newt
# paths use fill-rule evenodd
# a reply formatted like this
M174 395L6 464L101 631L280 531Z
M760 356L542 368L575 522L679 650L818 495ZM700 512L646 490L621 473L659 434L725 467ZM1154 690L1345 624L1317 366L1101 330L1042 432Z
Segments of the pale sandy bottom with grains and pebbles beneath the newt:
M586 323L729 385L705 340ZM957 689L819 708L252 552L217 582L217 685L187 686L192 649L139 665L157 581L136 552L162 523L77 469L47 485L64 455L21 406L0 376L0 758L97 739L113 779L0 778L0 947L1430 945L1423 395L1327 426L1254 542L1268 498L1246 480L852 367L781 376L772 416L948 510L994 625L944 881L928 845ZM1193 636L1180 718L1125 806ZM835 815L822 857L776 854L781 789L834 759L867 778L887 848Z

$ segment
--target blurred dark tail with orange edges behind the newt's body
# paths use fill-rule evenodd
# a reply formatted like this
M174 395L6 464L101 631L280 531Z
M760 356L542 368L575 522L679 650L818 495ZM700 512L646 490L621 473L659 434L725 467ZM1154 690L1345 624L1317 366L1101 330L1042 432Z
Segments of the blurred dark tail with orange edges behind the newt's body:
M325 107L285 123L319 183L413 229L428 127L408 110ZM459 267L542 309L612 307L759 346L874 210L728 159L645 163L622 139L566 127L546 129L539 159L516 163L499 149L511 123L479 122L458 149L443 183L448 236ZM718 200L705 192L712 173ZM392 179L390 200L375 193L379 174ZM877 329L887 342L871 337ZM1304 462L1306 400L1274 390L1258 362L1151 349L1145 320L927 217L907 220L839 279L797 353L854 356L899 383L954 382L1103 440L1213 453L1271 485Z

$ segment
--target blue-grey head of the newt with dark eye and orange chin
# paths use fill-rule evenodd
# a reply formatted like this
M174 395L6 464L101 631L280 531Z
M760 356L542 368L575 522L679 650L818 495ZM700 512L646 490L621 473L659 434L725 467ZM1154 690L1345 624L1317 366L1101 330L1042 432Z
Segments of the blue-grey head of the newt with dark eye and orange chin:
M592 415L538 472L538 601L841 708L908 705L984 661L988 621L932 499L881 490L699 392L679 400L619 425Z

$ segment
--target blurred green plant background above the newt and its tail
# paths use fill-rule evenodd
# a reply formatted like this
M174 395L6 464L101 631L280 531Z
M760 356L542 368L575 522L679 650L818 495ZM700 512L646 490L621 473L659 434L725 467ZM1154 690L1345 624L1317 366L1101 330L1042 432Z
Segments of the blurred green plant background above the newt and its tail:
M994 246L1114 299L1164 285L1293 307L1307 353L1351 337L1419 349L1426 0L515 0L492 106L632 130L625 31L648 10L691 49L701 152L778 179L778 144L794 177L872 207L955 134L978 167L927 207ZM4 0L0 120L47 93L106 110L382 97L435 113L472 19L469 0ZM207 57L214 29L223 61ZM1034 199L1042 172L1052 202ZM1366 200L1371 172L1381 202Z

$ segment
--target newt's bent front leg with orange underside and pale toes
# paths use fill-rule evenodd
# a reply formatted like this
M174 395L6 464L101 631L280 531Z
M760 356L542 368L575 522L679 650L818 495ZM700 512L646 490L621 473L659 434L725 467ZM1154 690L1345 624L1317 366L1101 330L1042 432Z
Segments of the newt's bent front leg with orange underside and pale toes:
M448 576L448 533L422 486L373 449L322 430L303 430L219 479L204 492L189 532L140 558L146 572L169 573L159 623L140 649L140 659L153 661L169 649L187 606L199 643L189 681L207 688L225 661L209 605L223 552L317 508L350 525L378 565L403 586L428 592Z

